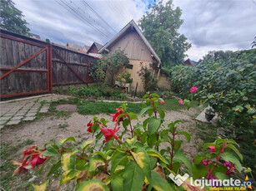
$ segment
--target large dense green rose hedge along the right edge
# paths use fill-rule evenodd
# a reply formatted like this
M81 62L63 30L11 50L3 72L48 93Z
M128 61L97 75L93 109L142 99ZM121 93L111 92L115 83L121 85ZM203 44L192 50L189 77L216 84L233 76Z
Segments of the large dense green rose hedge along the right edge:
M243 147L243 154L249 166L253 166L255 139L255 79L256 49L233 52L232 57L214 56L205 59L197 67L176 66L170 80L173 91L178 91L184 98L206 102L220 117L219 124L228 138L238 140ZM235 55L235 56L234 56ZM189 94L191 86L197 86L195 95ZM254 143L255 144L255 143ZM251 152L248 152L251 148Z

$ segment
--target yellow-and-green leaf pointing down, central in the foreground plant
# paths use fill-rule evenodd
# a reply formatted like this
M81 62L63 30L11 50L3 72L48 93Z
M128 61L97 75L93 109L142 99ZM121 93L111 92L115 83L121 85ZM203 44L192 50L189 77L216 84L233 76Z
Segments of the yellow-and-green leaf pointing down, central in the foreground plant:
M143 169L144 174L147 176L147 179L151 179L150 173L150 159L147 152L143 148L138 148L136 151L132 152L133 158L141 169Z

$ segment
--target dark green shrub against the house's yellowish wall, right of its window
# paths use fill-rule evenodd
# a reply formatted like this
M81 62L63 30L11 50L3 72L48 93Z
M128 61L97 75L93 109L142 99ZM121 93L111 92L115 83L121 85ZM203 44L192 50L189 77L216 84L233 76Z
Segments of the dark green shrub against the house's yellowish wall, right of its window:
M157 76L153 74L153 69L148 69L147 66L142 66L138 75L141 76L143 81L144 91L155 91L158 88Z

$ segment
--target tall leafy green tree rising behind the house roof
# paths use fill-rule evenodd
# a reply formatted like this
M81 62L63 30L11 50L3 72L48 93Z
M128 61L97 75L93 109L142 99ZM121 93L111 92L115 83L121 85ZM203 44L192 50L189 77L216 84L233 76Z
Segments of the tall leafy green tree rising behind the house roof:
M160 56L163 66L175 66L183 63L185 52L191 47L187 38L178 32L183 20L179 7L173 8L169 0L165 6L163 1L155 3L140 19L139 26L143 35Z

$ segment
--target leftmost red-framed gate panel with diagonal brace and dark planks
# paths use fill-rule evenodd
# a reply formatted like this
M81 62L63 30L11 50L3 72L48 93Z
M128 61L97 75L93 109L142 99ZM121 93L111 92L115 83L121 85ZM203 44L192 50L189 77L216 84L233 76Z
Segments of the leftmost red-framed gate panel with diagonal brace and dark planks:
M52 91L50 45L0 35L1 98ZM11 47L11 48L9 48ZM9 55L13 51L13 55Z

